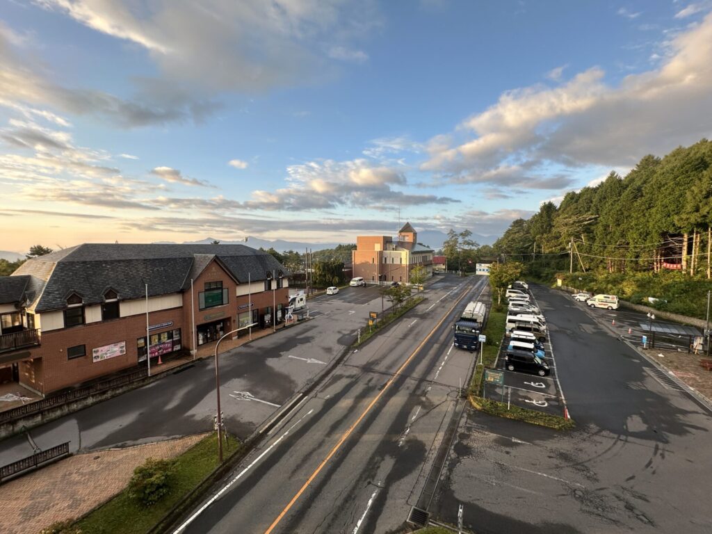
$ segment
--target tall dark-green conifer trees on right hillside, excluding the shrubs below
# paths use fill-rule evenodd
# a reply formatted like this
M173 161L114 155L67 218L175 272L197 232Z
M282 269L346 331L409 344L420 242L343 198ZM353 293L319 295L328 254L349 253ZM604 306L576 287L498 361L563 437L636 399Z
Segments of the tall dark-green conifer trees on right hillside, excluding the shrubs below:
M576 271L666 264L709 276L711 225L712 142L701 140L662 159L647 155L625 177L611 172L595 187L567 193L558 207L545 202L530 219L513 221L493 251L562 271L572 258Z

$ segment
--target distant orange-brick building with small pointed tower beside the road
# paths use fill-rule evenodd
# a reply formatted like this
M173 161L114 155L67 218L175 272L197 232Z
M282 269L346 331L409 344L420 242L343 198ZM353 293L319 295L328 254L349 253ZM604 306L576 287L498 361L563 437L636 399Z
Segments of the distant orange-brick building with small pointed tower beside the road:
M418 243L418 234L404 224L398 240L391 236L358 236L352 252L353 276L361 276L366 283L410 283L410 273L422 266L426 276L433 273L433 249Z

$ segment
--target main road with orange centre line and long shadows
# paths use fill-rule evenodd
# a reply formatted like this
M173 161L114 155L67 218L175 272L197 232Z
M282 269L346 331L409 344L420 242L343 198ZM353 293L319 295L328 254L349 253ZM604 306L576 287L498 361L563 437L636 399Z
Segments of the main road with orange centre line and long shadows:
M350 353L179 531L357 534L402 525L475 357L452 347L454 310L485 284L451 276L433 284L424 303Z

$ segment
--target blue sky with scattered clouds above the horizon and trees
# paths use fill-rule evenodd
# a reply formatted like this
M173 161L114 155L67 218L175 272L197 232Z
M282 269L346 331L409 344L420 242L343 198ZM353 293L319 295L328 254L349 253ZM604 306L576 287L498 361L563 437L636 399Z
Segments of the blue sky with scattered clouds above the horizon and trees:
M499 236L711 110L712 0L0 0L0 249Z

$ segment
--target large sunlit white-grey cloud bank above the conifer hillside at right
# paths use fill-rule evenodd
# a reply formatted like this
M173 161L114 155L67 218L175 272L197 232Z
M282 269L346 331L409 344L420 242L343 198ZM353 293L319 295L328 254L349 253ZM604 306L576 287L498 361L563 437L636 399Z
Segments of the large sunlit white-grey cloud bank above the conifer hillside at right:
M712 14L672 37L668 47L659 68L617 86L590 68L555 88L508 91L454 135L434 137L422 169L446 181L477 182L512 165L625 167L709 137L712 124L701 110L712 109Z

